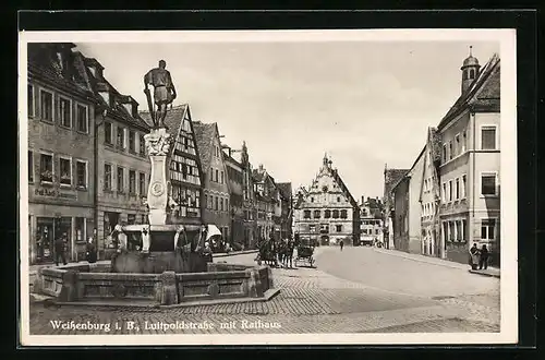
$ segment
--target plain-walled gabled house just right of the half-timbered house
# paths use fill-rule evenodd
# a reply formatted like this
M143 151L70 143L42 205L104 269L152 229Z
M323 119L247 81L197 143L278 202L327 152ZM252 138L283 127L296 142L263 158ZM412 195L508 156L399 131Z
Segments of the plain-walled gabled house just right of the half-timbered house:
M203 167L203 221L216 225L227 241L231 235L230 193L218 125L199 121L193 125Z

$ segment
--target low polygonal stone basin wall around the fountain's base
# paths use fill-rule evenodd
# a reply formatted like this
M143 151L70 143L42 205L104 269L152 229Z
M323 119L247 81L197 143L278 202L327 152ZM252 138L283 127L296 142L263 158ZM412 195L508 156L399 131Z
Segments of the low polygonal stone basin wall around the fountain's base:
M274 289L268 266L207 263L204 273L110 273L109 264L74 264L38 271L33 291L57 303L124 307L195 305L266 301Z

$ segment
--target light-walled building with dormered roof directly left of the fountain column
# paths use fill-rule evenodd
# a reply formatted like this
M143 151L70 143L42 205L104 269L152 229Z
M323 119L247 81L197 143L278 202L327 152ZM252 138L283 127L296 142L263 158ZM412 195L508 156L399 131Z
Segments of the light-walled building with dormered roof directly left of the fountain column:
M117 249L110 233L116 225L147 224L147 185L152 166L144 135L149 125L138 115L138 103L121 95L105 77L104 67L84 59L84 76L99 99L96 111L96 219L99 257Z

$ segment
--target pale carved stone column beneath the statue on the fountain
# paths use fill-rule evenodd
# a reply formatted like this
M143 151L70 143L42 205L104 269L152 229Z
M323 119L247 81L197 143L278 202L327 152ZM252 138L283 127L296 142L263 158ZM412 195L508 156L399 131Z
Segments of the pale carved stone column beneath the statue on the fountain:
M149 224L165 225L167 223L167 206L169 201L169 151L170 134L166 129L152 130L144 136L152 161L152 177L147 191L147 205L149 207Z

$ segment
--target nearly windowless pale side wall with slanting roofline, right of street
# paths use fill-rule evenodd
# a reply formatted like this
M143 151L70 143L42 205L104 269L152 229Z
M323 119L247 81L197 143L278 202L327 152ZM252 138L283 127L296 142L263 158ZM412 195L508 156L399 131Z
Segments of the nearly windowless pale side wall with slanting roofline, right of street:
M395 199L393 247L414 254L422 252L421 188L425 149L391 190Z

